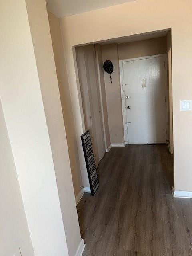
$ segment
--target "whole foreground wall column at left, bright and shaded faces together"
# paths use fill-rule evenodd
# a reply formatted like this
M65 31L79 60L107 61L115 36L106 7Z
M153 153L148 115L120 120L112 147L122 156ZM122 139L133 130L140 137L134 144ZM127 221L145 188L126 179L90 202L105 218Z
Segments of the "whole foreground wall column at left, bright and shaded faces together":
M0 98L34 254L74 256L83 240L46 3L2 0L0 5ZM22 214L19 201L18 208ZM10 224L16 216L14 210L7 216ZM17 238L22 238L19 228L14 234L17 245ZM30 246L24 228L26 246ZM7 243L13 245L12 237ZM25 255L30 254L29 247Z

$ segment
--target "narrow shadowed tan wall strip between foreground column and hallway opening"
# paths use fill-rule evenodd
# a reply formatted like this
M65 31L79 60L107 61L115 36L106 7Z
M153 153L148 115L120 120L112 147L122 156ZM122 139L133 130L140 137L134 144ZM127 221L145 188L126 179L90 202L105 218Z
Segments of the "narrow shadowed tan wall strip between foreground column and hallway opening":
M49 18L49 24L50 24L50 32L51 32L51 38L52 38L55 64L56 64L59 92L60 92L60 98L61 98L61 104L62 104L62 112L63 112L63 118L64 118L64 123L66 128L67 145L69 150L74 193L75 193L75 196L77 196L83 184L82 184L82 178L81 178L81 171L79 168L80 162L78 157L77 141L76 139L74 139L75 122L74 122L74 117L72 115L70 90L69 90L68 83L66 81L67 72L66 72L64 50L62 45L60 22L59 22L59 18L57 18L51 12L48 12L48 18Z

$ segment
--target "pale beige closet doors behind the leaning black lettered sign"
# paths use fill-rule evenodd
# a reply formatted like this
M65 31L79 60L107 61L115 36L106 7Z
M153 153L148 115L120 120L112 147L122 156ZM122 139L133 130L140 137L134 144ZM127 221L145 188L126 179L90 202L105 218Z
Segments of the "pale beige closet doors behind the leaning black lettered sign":
M94 45L76 49L86 130L90 130L96 166L105 154Z

